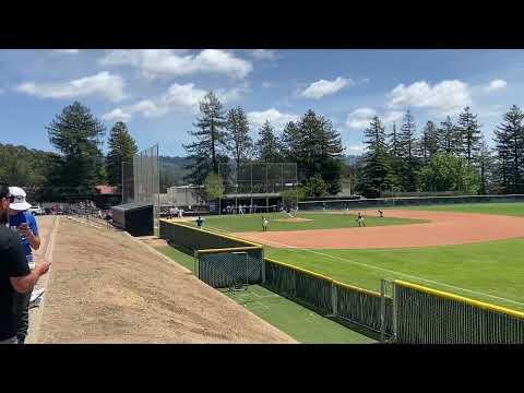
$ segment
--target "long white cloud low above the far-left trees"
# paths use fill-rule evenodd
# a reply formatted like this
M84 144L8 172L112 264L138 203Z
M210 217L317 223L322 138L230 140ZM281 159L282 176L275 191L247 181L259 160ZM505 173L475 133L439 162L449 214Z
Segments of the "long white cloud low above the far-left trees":
M15 91L39 98L102 96L111 102L119 102L124 97L123 85L124 83L120 75L104 71L69 82L25 82L17 85Z

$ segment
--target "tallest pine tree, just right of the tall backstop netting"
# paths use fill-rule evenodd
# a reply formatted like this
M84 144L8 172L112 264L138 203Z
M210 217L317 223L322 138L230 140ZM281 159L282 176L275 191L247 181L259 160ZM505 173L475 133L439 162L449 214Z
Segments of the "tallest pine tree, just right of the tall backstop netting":
M186 179L196 184L202 184L210 171L218 172L218 164L224 160L222 151L227 146L225 111L213 92L200 102L200 112L193 124L196 130L189 132L196 141L183 145L190 160L186 166L190 170Z

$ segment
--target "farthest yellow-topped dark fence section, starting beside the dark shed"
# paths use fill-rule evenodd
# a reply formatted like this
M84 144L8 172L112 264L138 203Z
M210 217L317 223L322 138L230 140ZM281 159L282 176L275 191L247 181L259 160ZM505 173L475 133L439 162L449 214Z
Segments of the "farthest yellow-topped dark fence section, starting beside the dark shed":
M169 245L175 246L190 255L193 255L196 250L204 249L260 246L209 229L200 229L189 224L172 223L166 219L160 219L159 235L160 238L167 240Z

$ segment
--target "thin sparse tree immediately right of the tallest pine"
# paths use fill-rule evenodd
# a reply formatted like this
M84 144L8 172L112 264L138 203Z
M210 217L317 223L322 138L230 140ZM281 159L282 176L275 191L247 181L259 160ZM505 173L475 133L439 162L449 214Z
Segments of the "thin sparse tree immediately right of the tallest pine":
M248 117L241 107L238 106L227 112L226 130L228 150L233 154L238 174L240 162L250 156L253 147L253 141L249 135Z

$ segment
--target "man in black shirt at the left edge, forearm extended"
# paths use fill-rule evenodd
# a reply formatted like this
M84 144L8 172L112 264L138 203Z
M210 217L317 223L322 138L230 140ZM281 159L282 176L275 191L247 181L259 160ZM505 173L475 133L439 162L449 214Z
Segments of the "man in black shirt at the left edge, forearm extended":
M0 344L16 344L16 313L13 309L15 293L31 293L38 278L49 270L49 262L38 263L33 272L24 255L20 237L9 228L9 206L14 196L0 184Z

